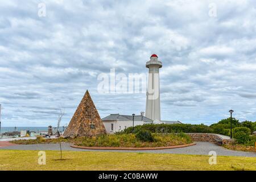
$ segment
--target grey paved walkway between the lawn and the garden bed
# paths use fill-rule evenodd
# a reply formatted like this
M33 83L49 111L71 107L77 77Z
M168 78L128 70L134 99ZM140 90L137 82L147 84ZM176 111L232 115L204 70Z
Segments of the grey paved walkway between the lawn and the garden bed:
M210 151L216 151L217 155L222 156L251 156L256 157L256 152L242 152L228 150L224 147L218 146L217 144L210 142L196 142L195 146L184 147L184 148L172 148L164 150L143 150L143 151L128 151L128 150L85 150L80 148L72 148L68 143L63 143L61 146L66 151L102 151L102 152L146 152L156 154L192 154L192 155L208 155ZM0 150L60 150L59 144L29 144L29 145L15 145L0 147Z

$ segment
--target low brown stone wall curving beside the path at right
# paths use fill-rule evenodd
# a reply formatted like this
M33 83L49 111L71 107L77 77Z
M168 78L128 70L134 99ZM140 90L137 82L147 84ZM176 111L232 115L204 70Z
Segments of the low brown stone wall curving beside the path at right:
M187 133L193 141L198 142L214 142L217 144L229 144L233 143L233 139L223 139L217 134L213 133Z

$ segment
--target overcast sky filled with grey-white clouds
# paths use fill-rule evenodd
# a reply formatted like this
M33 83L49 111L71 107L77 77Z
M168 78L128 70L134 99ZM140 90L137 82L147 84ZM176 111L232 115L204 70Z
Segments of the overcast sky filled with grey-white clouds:
M139 114L145 93L98 93L97 77L147 73L152 53L163 120L256 120L254 0L2 0L2 126L56 126L60 108L68 123L86 89L101 117Z

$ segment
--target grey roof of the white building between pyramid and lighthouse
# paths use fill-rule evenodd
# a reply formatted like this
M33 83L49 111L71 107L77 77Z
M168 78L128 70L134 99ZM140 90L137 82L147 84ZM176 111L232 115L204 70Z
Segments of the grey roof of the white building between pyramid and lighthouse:
M110 114L105 118L101 119L102 121L133 121L132 115L121 115L121 114ZM144 122L152 122L153 120L143 115L135 115L134 121L144 121Z

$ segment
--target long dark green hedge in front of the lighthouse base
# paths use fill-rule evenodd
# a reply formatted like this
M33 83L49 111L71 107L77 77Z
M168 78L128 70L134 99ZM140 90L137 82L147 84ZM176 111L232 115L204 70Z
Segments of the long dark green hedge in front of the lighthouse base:
M147 130L151 133L213 133L213 129L206 125L191 125L191 124L146 124L129 127L123 131L123 133L138 133L139 130Z

